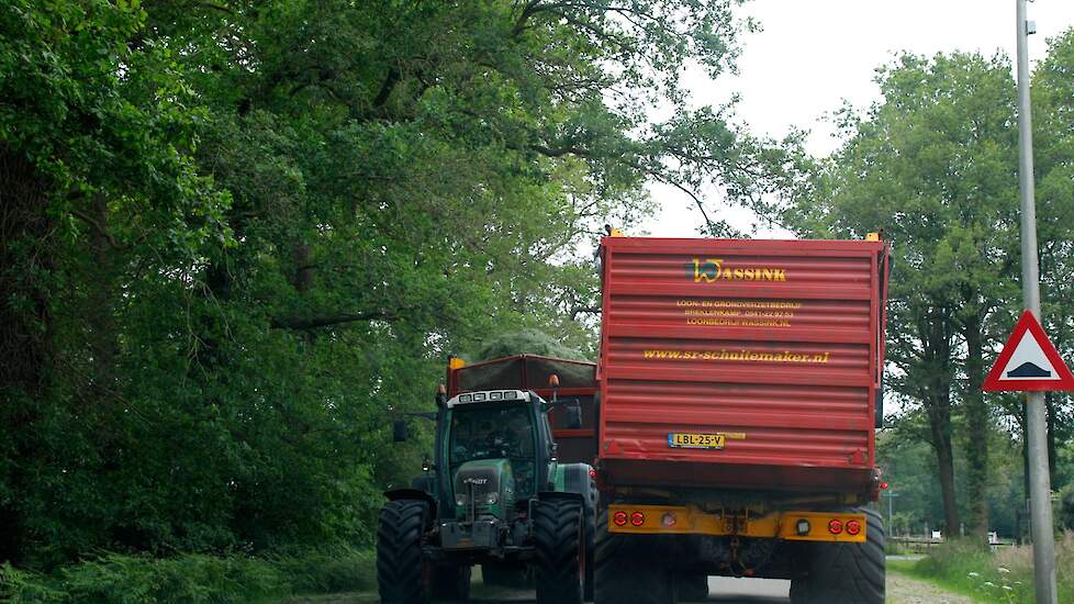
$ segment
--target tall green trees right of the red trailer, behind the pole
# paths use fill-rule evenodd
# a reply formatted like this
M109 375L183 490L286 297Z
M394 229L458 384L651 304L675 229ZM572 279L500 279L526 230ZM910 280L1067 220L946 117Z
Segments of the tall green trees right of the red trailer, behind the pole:
M1072 325L1063 309L1074 261L1074 130L1062 125L1074 83L1063 68L1072 41L1070 33L1053 41L1034 77L1044 320L1061 342ZM993 435L1021 429L1019 398L981 392L986 359L1022 307L1016 86L1006 58L961 53L902 55L879 69L876 82L882 100L863 113L838 114L843 145L817 160L807 186L771 215L803 236L859 238L883 230L892 242L888 382L905 413L899 434L933 449L949 534L966 518L983 536L1003 467L989 446L1009 449L1008 439ZM1065 404L1051 411L1054 428ZM1053 443L1056 432L1063 433L1053 429ZM965 461L956 472L959 458Z

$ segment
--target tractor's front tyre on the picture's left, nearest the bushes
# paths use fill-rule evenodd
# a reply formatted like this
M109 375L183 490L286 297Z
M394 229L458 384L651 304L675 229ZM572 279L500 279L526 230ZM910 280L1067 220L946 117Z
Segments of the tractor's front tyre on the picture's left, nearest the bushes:
M429 519L424 501L392 501L380 508L377 584L384 604L424 604L429 568L422 559L422 534Z

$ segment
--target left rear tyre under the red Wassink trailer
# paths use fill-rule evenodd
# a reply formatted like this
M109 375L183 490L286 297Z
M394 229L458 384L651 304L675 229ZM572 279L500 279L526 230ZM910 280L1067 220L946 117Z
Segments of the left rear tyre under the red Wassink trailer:
M607 510L596 524L595 604L674 604L671 571L636 536L608 530Z

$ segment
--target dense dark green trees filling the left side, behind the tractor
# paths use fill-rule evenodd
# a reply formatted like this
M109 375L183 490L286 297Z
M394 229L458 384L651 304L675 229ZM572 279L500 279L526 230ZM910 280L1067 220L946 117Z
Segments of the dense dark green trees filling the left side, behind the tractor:
M680 86L739 3L0 4L0 560L368 544L448 354L592 354L647 181L784 178Z

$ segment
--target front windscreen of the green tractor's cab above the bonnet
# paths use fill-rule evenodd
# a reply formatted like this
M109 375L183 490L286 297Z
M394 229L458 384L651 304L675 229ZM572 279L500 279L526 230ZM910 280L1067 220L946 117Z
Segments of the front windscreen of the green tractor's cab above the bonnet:
M456 409L449 440L451 473L467 461L506 459L515 490L530 494L535 486L534 427L524 405Z

